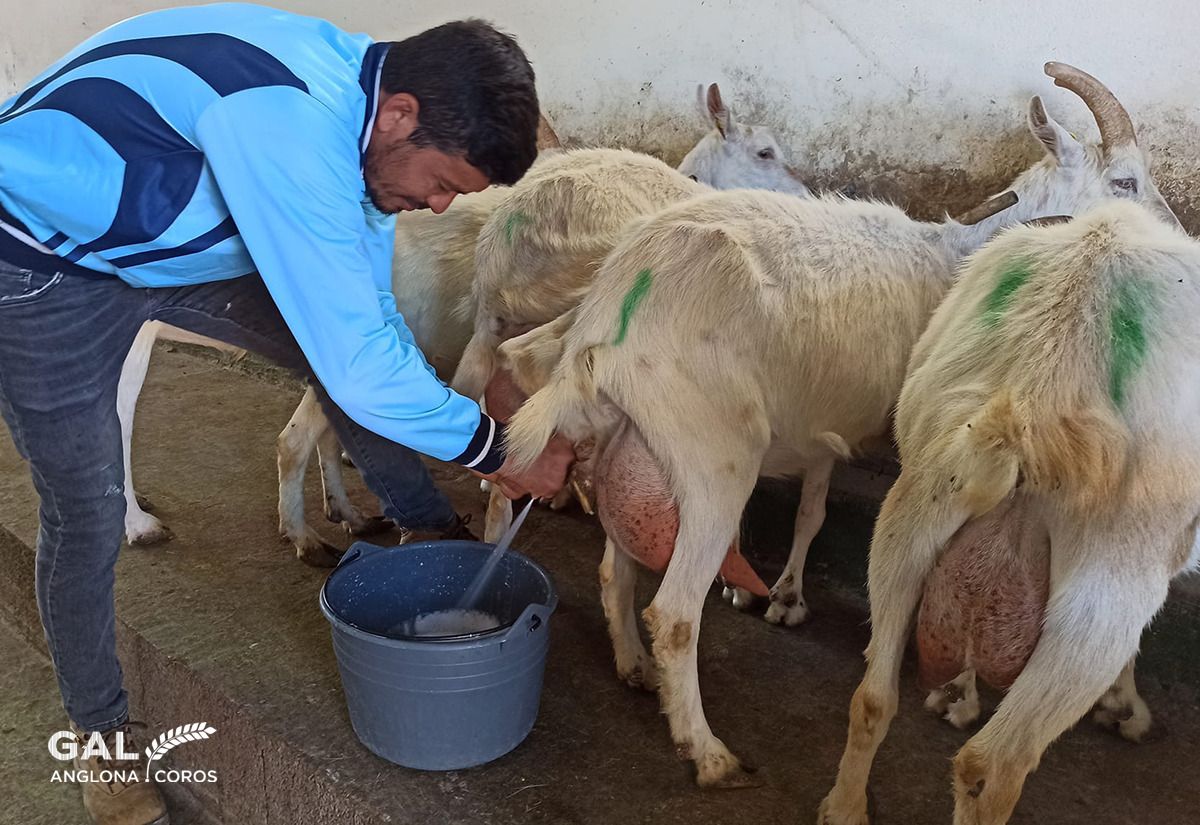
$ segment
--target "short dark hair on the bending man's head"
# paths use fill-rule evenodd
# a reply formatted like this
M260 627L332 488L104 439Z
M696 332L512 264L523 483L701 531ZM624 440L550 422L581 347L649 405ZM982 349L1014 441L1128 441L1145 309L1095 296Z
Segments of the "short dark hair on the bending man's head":
M484 20L445 23L392 43L379 85L420 104L413 145L463 155L493 183L515 183L533 165L533 67L512 37Z

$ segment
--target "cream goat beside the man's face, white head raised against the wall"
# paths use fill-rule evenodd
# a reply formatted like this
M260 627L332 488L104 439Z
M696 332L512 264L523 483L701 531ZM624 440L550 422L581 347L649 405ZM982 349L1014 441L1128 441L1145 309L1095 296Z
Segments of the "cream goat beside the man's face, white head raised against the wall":
M707 118L715 126L679 170L625 150L583 150L541 165L514 187L480 234L473 290L475 331L455 374L455 390L480 397L494 378L499 343L576 306L604 255L635 219L708 192L709 186L809 195L784 164L768 130L737 124L715 83L707 100ZM581 462L570 488L551 506L564 505L575 492L590 512L587 482L577 481L589 472L586 450L580 447ZM510 505L492 492L484 537L497 540L510 518Z

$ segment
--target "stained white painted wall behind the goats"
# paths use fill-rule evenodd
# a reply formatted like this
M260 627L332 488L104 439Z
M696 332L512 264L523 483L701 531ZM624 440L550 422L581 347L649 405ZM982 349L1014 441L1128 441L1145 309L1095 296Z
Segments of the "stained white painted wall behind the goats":
M0 0L0 92L79 40L164 0ZM182 4L180 4L182 5ZM700 83L718 80L775 127L823 182L920 197L998 183L1037 150L1030 95L1076 133L1086 110L1046 60L1108 83L1160 162L1169 198L1200 192L1200 2L1195 0L275 0L378 38L466 16L515 34L562 133L677 159L701 130ZM958 176L947 177L954 171ZM925 177L930 180L926 181ZM930 182L937 181L937 182ZM926 185L928 183L928 185ZM950 195L947 195L950 197ZM1200 199L1198 199L1200 200ZM922 211L920 204L914 204ZM1194 216L1200 219L1200 212ZM1195 221L1193 221L1195 223Z

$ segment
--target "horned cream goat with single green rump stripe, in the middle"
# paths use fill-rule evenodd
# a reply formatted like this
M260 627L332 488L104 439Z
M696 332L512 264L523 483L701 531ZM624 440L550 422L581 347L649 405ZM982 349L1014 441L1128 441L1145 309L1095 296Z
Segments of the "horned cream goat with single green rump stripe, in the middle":
M1092 106L1102 134L1116 134L1105 131L1117 104L1103 86L1067 66L1046 71ZM704 595L756 480L804 472L792 559L773 594L802 618L803 560L833 464L886 430L908 355L958 261L1006 224L1115 194L1159 198L1132 132L1128 144L1085 147L1036 97L1030 127L1048 156L1014 181L1018 205L978 225L764 192L709 194L638 223L577 309L550 384L511 421L518 460L539 454L556 429L596 439L602 600L618 673L661 681L672 736L702 785L750 781L704 719L696 643ZM635 476L665 489L629 489ZM606 507L613 481L626 500ZM643 614L655 676L636 630L631 562L617 550L653 556L637 544L664 536L674 555Z

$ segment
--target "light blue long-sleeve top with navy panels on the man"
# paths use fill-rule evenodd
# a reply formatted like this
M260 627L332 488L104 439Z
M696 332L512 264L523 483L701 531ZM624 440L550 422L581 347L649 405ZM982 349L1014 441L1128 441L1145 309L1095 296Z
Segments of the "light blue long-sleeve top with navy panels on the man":
M258 272L358 423L493 471L497 424L430 369L391 294L362 157L386 43L223 4L134 17L0 104L0 206L137 287Z

